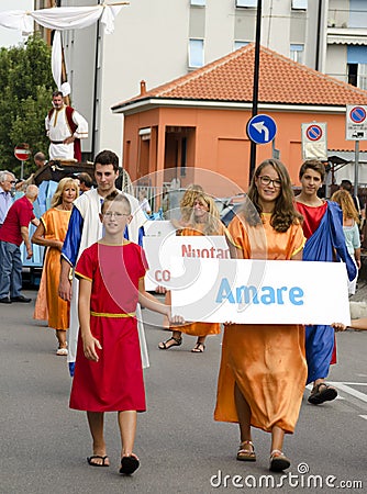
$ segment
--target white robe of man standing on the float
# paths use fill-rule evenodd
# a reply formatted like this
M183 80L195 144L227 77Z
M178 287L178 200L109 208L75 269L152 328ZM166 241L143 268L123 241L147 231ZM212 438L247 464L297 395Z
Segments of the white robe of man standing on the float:
M76 110L73 112L73 121L78 126L73 134L69 122L66 117L65 104L60 110L54 109L51 119L45 119L46 134L49 138L48 156L49 159L74 159L74 143L70 144L53 144L52 141L62 142L74 135L78 139L88 137L88 122Z

